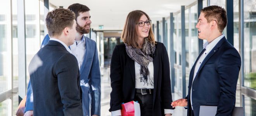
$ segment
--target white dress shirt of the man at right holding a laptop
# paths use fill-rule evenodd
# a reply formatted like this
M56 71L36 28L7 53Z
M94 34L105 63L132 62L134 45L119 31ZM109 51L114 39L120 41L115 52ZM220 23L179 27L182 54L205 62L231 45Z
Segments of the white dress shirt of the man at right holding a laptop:
M195 65L195 69L194 69L194 75L193 75L193 80L192 80L192 85L195 79L195 76L199 70L199 67L201 66L202 61L204 61L204 58L206 58L206 56L209 54L209 52L211 52L211 50L214 48L214 46L216 46L216 44L220 41L220 39L222 39L224 37L224 35L222 34L221 36L219 36L218 38L214 39L213 41L211 41L211 43L208 43L208 41L206 43L203 44L204 49L206 49L204 51L204 53L200 56L200 58L198 59L196 65ZM191 90L190 90L190 103L192 106L192 85L191 85ZM192 110L193 110L193 106L192 106Z

